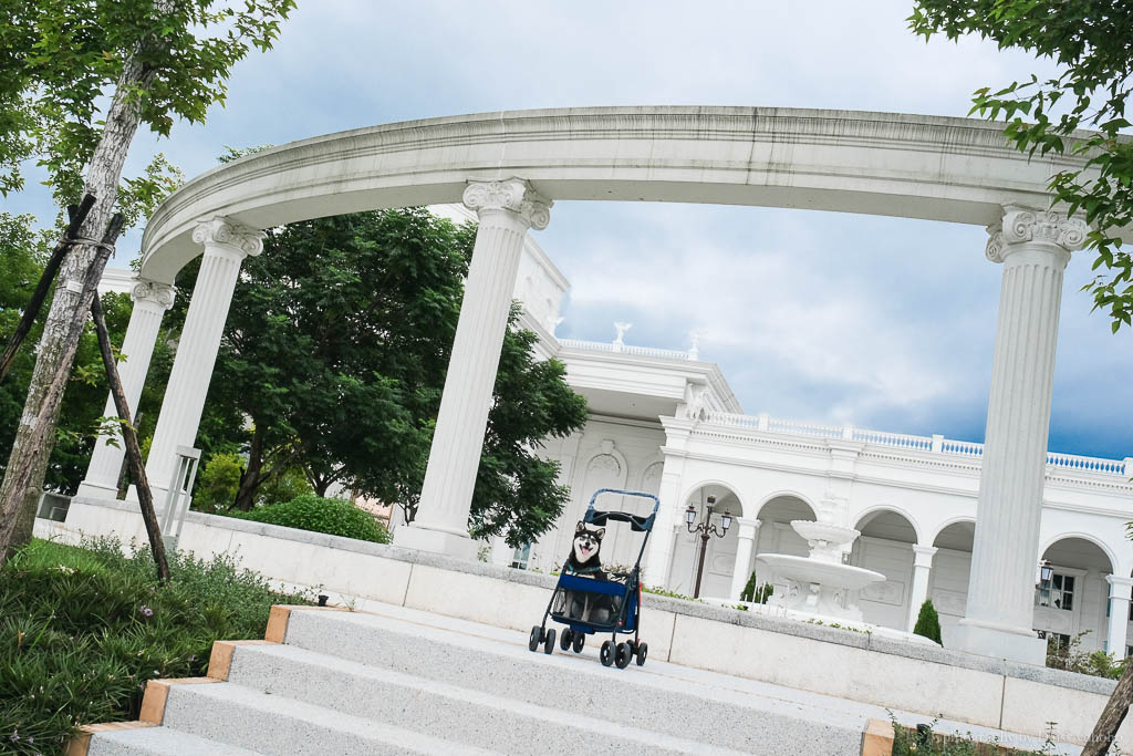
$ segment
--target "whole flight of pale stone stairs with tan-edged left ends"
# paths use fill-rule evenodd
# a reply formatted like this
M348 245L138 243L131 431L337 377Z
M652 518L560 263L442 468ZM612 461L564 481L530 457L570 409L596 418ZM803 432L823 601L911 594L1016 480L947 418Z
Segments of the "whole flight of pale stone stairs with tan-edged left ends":
M150 683L142 720L156 727L97 731L69 754L862 753L859 716L664 662L604 668L593 637L547 656L444 618L275 608L267 640L219 642L210 679Z

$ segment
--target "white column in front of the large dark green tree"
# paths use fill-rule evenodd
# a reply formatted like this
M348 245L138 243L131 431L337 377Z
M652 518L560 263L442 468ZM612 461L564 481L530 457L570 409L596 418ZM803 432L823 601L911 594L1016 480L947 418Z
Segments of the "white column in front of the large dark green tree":
M468 537L468 510L516 290L516 273L528 229L546 228L552 203L527 181L511 178L469 181L465 205L479 216L472 263L465 283L420 506L412 524L394 534L394 543L475 559L476 546Z

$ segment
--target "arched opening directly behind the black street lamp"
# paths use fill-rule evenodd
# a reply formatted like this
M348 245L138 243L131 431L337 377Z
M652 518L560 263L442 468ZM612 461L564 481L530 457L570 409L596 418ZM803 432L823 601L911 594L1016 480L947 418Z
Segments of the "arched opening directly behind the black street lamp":
M739 545L738 517L743 517L743 504L739 494L722 483L706 483L695 489L685 496L678 516L675 544L673 546L673 564L670 572L670 588L676 593L691 596L696 593L697 571L700 564L700 550L705 545L699 533L689 533L684 520L684 510L691 506L696 509L696 525L705 521L708 498L714 496L710 523L721 529L721 516L727 512L732 517L732 526L723 536L709 535L705 551L704 576L700 580L700 595L706 597L727 597L732 586L732 574L735 569L735 552Z

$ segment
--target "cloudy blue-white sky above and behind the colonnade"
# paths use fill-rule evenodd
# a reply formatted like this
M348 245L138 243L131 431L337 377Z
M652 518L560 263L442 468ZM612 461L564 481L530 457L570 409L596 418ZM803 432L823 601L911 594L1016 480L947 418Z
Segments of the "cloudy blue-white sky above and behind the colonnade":
M587 105L759 105L966 116L971 93L1051 70L976 39L914 37L911 2L299 0L224 108L142 134L187 176L225 145L417 118ZM32 181L29 181L31 184ZM0 204L53 216L35 187ZM536 236L571 282L559 335L688 348L744 411L981 441L1002 266L973 226L761 207L561 202ZM131 232L122 249L136 249ZM122 266L128 255L114 264ZM1133 331L1066 271L1055 451L1133 457Z

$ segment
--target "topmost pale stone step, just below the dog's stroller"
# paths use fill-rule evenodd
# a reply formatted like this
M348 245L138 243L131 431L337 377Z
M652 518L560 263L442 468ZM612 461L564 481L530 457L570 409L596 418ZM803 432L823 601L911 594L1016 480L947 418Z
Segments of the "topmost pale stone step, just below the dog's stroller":
M441 618L423 622L304 610L291 612L286 632L288 646L472 691L479 700L553 708L598 721L598 725L588 727L598 727L602 732L610 732L610 725L615 724L675 738L676 746L691 740L701 744L701 750L861 753L868 717L809 703L813 696L768 697L755 693L758 686L751 681L723 674L708 679L659 660L649 660L641 668L606 668L598 661L597 639L599 636L588 637L589 646L579 655L561 652L557 646L552 655L545 655L529 652L519 634L499 628ZM238 647L232 662L237 672L231 679L240 679L238 670L245 657L252 664L258 655L256 663L265 663L269 653L264 648ZM337 694L337 699L339 695L347 693Z

